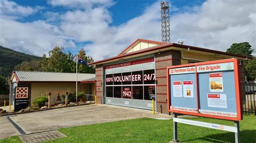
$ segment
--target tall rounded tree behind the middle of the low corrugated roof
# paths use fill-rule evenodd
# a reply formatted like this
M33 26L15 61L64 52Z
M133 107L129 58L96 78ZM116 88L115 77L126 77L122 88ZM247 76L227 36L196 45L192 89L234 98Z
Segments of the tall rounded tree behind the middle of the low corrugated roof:
M74 56L65 53L64 47L56 46L49 52L49 58L43 55L41 64L43 71L73 73L76 71Z

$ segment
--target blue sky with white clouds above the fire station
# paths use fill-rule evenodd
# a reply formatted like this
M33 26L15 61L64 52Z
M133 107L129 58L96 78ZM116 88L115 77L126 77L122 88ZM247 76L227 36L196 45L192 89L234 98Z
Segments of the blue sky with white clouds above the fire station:
M255 49L255 2L173 0L171 42L225 51L248 41ZM138 38L161 40L160 1L2 0L0 45L42 56L55 46L109 58Z

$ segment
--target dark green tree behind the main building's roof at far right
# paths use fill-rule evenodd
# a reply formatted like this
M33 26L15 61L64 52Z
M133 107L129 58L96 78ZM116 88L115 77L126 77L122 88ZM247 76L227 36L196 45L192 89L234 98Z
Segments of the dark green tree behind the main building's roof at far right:
M234 53L246 56L252 56L253 49L248 42L233 43L230 48L227 49L227 53Z

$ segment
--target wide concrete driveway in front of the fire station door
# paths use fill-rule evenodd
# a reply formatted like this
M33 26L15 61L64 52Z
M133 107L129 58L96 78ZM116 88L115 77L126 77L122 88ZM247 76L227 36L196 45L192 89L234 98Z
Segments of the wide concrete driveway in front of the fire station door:
M106 123L117 120L126 120L134 118L171 118L169 115L156 113L152 115L152 111L140 110L133 108L124 108L120 106L112 105L84 105L74 106L71 108L61 108L41 112L24 113L21 115L11 116L11 119L25 131L25 133L36 133L44 131L57 130L64 127L73 127L80 125L89 125L97 123ZM0 123L5 117L0 117ZM5 119L6 120L6 119ZM7 121L7 120L6 120ZM6 123L5 121L5 123ZM4 123L4 124L5 124ZM0 128L0 132L11 132L9 137L17 135L17 131L14 131L14 127L11 124L6 123L8 126ZM10 128L10 130L6 130ZM0 134L0 139L6 138L6 135Z

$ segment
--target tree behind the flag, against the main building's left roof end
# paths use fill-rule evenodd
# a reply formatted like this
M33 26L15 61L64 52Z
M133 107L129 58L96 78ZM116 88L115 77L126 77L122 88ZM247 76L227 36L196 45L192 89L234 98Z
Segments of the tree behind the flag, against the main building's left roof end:
M87 56L84 49L80 49L79 54L78 54L78 58L81 58L83 61L85 61L86 63L90 63L93 62L93 59L91 56ZM78 64L77 67L77 72L78 73L91 73L91 74L95 74L95 68L94 67L89 67L89 66L85 66L83 64Z

